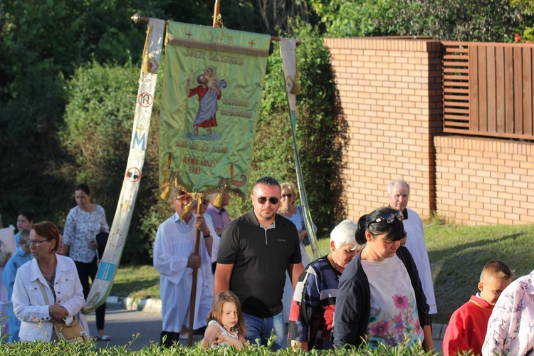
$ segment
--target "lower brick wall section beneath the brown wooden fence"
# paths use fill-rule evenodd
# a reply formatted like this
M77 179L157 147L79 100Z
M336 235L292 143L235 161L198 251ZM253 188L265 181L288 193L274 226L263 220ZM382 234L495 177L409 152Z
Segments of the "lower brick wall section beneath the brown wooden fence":
M434 137L437 214L456 224L534 223L534 144Z

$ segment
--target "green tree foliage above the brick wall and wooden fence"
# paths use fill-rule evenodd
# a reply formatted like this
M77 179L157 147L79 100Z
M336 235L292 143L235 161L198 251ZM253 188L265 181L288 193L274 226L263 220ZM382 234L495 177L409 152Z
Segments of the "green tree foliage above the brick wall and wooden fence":
M512 41L531 16L510 0L310 0L327 36L433 36Z

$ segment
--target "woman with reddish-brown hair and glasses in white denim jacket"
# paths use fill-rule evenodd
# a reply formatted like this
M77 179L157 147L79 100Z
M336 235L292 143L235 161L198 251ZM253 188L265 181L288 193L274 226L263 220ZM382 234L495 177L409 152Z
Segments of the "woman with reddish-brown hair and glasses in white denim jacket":
M56 253L59 242L58 228L50 221L35 224L30 232L33 260L17 271L11 298L14 313L21 320L21 341L56 340L53 323L70 325L83 307L76 266L72 259Z

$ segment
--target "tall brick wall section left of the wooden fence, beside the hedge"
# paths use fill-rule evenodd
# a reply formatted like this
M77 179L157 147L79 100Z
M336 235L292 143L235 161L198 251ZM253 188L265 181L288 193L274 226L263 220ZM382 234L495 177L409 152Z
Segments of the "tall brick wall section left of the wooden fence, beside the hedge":
M350 144L348 218L388 204L387 184L409 182L409 207L436 209L434 135L441 132L441 43L412 38L327 38Z

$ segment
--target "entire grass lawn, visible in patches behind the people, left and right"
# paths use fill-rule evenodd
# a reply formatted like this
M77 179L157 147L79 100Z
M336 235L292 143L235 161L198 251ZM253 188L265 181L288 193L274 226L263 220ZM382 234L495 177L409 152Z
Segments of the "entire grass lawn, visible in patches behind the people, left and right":
M515 276L534 269L534 226L455 226L427 223L426 248L434 281L438 314L434 323L446 324L452 312L478 291L484 264L500 259ZM328 239L319 240L320 251L329 251ZM312 256L308 246L308 255ZM120 267L111 295L159 298L159 274L152 266Z

